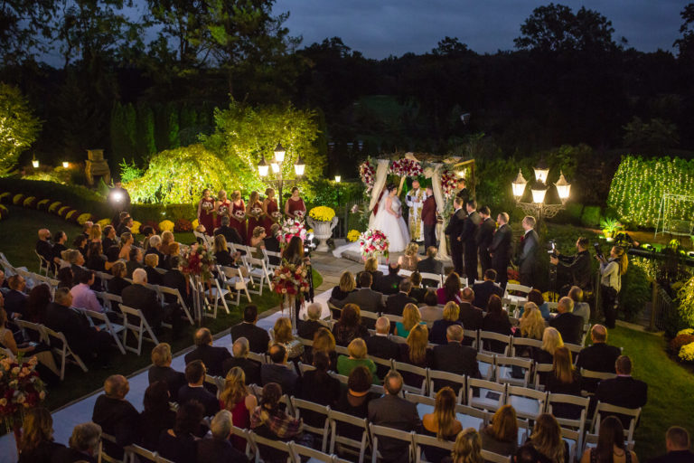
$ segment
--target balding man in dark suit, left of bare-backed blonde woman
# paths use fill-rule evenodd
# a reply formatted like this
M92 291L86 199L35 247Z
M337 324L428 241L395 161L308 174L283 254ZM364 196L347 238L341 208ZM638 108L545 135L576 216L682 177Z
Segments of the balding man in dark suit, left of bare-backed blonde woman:
M402 376L391 370L383 379L386 395L369 402L369 421L396 430L418 430L421 425L417 405L399 396ZM408 446L402 440L379 437L379 451L384 461L407 461Z

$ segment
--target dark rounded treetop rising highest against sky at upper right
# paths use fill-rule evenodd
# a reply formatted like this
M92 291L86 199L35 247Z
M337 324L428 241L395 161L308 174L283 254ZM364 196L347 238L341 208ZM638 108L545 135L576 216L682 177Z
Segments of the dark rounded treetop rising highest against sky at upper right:
M612 33L612 21L594 10L582 6L574 14L568 6L549 4L532 11L513 43L539 52L609 52L618 48Z

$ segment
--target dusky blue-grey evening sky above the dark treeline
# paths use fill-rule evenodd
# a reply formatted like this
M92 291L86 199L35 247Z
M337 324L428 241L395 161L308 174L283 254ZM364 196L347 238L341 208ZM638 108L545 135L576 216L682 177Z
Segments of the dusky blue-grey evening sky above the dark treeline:
M642 52L674 52L680 11L686 0L559 0L576 12L582 5L612 21L614 40L622 36ZM446 35L475 52L511 50L521 24L549 0L277 0L275 12L291 13L292 35L302 46L338 36L368 58L429 52Z

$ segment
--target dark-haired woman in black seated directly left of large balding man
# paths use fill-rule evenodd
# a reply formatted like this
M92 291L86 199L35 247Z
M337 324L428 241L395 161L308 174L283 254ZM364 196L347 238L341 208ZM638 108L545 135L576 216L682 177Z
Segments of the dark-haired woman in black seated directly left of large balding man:
M375 392L370 392L373 375L365 366L358 366L352 370L347 379L347 389L342 392L340 399L335 404L334 410L342 411L355 418L363 419L369 416L369 402L379 397ZM340 436L361 440L360 428L350 424L338 422L337 433Z

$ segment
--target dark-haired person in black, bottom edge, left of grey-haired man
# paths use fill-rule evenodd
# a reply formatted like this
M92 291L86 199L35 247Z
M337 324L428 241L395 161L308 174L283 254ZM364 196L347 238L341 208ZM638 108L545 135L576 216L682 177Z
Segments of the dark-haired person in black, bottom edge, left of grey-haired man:
M200 402L181 403L176 411L174 428L164 430L159 435L159 445L156 450L160 457L176 463L196 461L204 411Z

